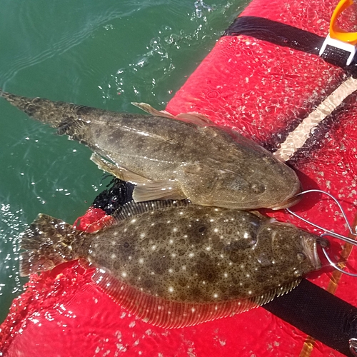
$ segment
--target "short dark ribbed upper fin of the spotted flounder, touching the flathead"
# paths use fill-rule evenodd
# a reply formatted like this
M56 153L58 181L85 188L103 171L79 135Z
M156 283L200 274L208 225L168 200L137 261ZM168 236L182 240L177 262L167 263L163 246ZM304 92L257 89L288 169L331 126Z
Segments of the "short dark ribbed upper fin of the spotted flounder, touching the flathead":
M191 204L188 200L166 200L166 201L146 201L146 202L135 202L130 201L121 208L118 208L113 214L117 221L123 221L124 219L131 218L133 216L138 216L141 213L153 212L159 209L171 208L171 207L184 207Z

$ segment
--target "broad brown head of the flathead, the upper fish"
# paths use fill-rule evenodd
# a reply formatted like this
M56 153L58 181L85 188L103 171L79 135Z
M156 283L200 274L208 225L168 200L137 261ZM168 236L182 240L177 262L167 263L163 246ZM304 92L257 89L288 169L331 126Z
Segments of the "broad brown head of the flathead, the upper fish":
M222 130L233 139L234 145L220 161L220 178L213 193L221 200L219 206L276 210L301 200L296 196L301 192L301 183L293 169L255 141L231 129ZM221 130L219 134L223 135Z

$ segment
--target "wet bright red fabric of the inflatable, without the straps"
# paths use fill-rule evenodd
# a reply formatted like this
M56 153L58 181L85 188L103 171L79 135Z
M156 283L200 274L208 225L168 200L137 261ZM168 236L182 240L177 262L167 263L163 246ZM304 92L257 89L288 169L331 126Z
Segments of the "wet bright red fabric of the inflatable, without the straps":
M263 16L326 36L337 1L253 0L243 15ZM246 36L224 37L170 101L173 114L198 111L268 147L343 81L317 56ZM323 136L291 161L305 189L332 193L353 221L357 204L356 96L333 116ZM322 139L321 139L322 138ZM293 208L321 226L346 234L336 206L311 194ZM301 221L268 212L309 231ZM357 269L357 251L348 259ZM91 282L78 262L31 276L1 326L4 356L341 356L321 343L312 349L301 331L258 308L190 328L154 328L121 309ZM326 288L330 273L312 281ZM357 306L356 278L341 277L336 295ZM304 349L305 348L305 349Z

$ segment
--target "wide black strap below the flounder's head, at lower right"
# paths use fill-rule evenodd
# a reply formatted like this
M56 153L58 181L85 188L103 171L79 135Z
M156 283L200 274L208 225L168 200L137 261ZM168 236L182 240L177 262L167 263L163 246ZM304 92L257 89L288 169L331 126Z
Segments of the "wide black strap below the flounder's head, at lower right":
M304 279L263 308L326 346L353 356L348 340L357 337L357 308L315 284Z

